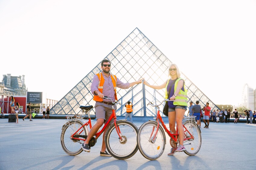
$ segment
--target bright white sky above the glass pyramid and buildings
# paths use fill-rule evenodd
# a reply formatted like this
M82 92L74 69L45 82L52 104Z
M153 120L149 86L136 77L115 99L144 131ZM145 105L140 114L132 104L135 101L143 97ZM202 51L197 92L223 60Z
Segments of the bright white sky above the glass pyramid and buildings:
M137 27L213 103L238 105L245 84L256 88L255 9L255 0L0 0L0 73L60 100Z

